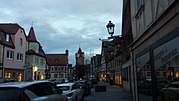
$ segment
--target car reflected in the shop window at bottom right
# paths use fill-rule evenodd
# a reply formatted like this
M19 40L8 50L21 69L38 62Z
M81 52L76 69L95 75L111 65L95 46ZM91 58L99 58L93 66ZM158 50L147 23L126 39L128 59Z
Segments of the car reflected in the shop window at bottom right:
M171 82L161 89L161 101L179 101L179 81Z

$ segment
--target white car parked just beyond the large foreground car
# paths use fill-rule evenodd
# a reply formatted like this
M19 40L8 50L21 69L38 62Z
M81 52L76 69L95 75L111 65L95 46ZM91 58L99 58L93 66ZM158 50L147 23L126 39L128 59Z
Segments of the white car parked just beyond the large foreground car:
M57 87L66 94L68 101L83 101L83 90L75 83L57 84Z

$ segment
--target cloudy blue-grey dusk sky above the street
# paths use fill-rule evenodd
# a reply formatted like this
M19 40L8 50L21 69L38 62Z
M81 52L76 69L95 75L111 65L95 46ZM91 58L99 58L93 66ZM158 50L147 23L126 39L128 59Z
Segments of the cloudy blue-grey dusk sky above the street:
M29 33L33 26L46 54L64 54L75 64L81 47L86 59L101 53L101 41L109 34L108 21L121 34L122 0L2 0L0 23L18 23Z

